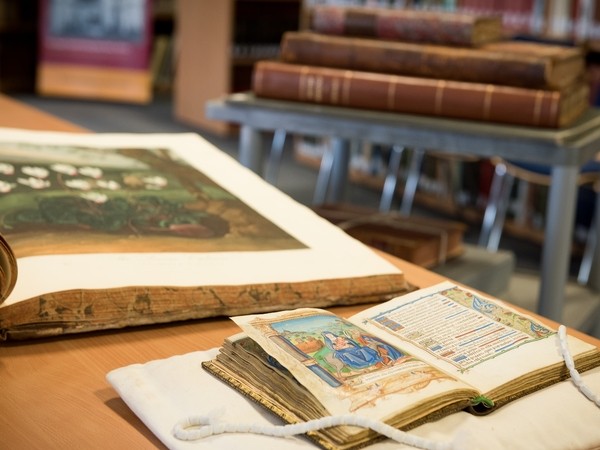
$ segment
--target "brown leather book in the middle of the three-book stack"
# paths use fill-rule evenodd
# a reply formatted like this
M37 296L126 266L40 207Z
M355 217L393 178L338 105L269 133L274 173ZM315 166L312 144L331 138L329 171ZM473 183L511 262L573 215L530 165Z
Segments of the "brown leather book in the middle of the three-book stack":
M296 64L546 89L569 86L585 71L579 47L500 41L467 48L296 31L283 35L280 58Z

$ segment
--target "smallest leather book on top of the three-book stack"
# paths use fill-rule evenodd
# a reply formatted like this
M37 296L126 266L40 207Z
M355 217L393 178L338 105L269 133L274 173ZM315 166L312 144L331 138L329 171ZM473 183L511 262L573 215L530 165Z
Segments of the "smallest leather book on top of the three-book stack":
M474 46L501 40L500 15L448 11L314 6L309 27L323 34Z

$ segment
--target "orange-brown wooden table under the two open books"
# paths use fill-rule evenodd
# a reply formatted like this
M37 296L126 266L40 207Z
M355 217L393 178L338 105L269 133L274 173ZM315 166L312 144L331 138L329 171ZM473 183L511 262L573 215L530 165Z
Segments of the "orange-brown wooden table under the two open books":
M85 131L0 95L0 126ZM440 275L395 258L425 287ZM350 315L361 307L333 308ZM546 321L556 325L551 321ZM162 448L105 379L112 369L219 346L228 319L0 343L0 448ZM600 340L569 330L600 346Z

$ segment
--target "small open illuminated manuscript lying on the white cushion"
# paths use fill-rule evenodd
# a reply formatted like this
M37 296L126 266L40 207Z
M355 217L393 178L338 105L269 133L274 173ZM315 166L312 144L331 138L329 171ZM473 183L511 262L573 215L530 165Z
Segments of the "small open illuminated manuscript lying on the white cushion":
M303 308L234 321L243 333L203 366L289 423L355 414L407 430L489 413L569 376L556 330L450 282L349 319ZM567 343L580 372L600 365L597 347ZM351 426L307 434L330 450L381 439Z

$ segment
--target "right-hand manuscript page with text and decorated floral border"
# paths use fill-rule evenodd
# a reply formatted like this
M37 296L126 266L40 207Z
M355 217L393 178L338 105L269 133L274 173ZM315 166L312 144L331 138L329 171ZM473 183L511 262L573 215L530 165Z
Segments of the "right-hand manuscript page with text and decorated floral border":
M351 320L482 393L563 361L555 330L450 282L397 297ZM570 346L575 354L589 345Z

